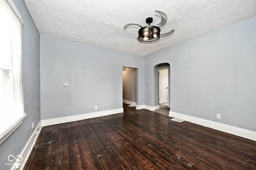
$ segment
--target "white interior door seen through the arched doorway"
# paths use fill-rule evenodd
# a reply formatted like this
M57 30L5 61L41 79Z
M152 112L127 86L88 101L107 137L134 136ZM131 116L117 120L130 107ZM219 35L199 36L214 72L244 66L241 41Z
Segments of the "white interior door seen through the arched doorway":
M168 69L159 70L159 104L168 102Z

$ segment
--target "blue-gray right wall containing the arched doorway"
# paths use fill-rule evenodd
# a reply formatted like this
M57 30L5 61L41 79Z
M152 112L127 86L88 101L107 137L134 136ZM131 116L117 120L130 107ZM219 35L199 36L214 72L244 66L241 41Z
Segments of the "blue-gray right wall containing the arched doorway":
M169 63L171 111L256 131L255 30L253 17L144 57L145 104L154 66Z

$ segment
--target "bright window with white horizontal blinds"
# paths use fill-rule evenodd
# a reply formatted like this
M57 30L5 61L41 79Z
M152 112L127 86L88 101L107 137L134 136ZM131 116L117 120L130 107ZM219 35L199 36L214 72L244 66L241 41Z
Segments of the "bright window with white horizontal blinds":
M22 23L11 0L0 0L0 144L22 123Z

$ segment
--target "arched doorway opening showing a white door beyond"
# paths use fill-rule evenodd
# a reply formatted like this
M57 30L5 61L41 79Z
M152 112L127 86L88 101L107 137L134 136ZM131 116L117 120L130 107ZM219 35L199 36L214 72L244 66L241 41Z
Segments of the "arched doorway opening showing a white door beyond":
M155 112L169 115L170 111L170 64L155 66Z

